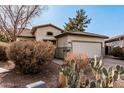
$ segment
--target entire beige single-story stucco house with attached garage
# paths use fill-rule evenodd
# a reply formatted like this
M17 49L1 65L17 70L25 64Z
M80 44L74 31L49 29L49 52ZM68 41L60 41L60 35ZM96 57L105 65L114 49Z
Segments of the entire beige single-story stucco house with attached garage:
M89 32L66 32L52 24L33 27L27 35L24 35L24 38L23 34L19 36L18 40L30 39L53 42L57 47L55 54L57 58L64 58L68 51L87 54L89 57L94 57L94 55L103 56L105 53L104 40L108 38L104 35Z

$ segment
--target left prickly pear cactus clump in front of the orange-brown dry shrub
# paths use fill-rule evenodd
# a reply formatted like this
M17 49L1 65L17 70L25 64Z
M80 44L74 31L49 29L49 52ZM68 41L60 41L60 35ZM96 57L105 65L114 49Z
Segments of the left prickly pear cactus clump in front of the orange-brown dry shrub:
M71 61L68 65L66 65L64 68L61 68L62 73L66 77L66 86L69 88L75 88L80 87L80 81L83 77L82 70L79 70L77 68L77 64L73 61Z

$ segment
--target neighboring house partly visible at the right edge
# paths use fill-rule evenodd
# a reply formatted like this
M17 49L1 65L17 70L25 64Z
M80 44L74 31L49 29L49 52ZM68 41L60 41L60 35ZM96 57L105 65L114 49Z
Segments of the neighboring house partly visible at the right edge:
M110 54L114 47L124 47L124 35L119 35L105 41L106 54Z

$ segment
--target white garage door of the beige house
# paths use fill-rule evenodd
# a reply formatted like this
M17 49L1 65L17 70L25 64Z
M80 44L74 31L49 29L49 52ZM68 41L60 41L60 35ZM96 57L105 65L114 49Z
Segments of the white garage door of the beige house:
M72 42L73 52L77 54L87 54L88 57L93 58L101 56L101 43L94 42Z

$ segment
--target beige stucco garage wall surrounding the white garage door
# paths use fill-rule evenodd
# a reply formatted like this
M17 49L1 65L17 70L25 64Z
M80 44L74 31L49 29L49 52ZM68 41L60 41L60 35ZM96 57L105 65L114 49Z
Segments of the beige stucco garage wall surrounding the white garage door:
M102 43L102 55L105 55L104 39L88 36L66 35L58 38L58 47L72 47L72 41L87 41L87 42L100 42Z

